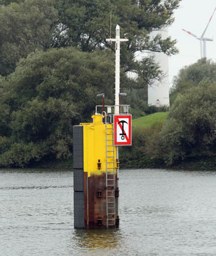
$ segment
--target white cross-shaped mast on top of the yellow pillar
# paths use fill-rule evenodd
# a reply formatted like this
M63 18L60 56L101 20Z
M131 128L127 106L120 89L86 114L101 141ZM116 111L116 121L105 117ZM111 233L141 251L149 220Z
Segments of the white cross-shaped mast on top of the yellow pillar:
M120 38L120 27L116 26L116 38L108 38L107 42L116 42L116 81L115 81L115 111L119 114L119 92L120 92L120 42L127 42L128 39Z

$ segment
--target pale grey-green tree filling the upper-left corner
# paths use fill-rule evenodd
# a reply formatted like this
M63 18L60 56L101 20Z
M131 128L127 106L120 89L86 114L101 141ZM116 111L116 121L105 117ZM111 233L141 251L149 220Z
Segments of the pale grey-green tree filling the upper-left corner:
M9 75L35 49L47 48L56 17L52 0L0 5L0 75Z

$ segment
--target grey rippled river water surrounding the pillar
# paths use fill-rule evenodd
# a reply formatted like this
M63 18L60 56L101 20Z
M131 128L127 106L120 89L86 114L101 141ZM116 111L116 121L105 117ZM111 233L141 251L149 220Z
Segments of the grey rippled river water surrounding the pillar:
M119 177L120 228L74 230L71 170L0 170L0 255L216 255L216 172Z

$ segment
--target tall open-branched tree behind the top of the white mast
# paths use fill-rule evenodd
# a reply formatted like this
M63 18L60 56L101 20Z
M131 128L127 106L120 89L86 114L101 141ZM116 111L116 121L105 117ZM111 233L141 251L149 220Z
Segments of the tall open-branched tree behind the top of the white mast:
M173 11L180 0L56 0L58 22L55 24L52 47L78 46L82 51L111 48L114 44L106 38L115 37L116 24L120 25L120 36L128 43L121 46L121 65L125 72L133 71L139 77L134 88L144 88L152 79L160 79L161 72L154 60L144 57L136 61L138 51L175 54L176 40L163 40L161 35L151 32L164 29L173 22ZM111 26L110 26L111 24Z

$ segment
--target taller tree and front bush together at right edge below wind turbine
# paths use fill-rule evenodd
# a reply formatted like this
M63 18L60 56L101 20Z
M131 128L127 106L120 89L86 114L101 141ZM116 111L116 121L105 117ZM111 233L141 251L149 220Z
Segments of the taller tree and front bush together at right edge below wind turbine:
M164 159L214 156L216 149L216 63L200 59L179 71L169 118L162 129ZM165 150L166 149L166 150Z

